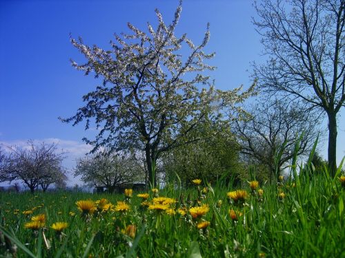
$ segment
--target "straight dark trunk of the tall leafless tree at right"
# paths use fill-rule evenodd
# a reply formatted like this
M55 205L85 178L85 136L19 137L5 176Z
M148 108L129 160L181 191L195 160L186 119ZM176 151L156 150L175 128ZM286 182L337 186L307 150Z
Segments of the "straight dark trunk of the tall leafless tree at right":
M337 171L337 117L336 113L328 112L328 168L330 175Z

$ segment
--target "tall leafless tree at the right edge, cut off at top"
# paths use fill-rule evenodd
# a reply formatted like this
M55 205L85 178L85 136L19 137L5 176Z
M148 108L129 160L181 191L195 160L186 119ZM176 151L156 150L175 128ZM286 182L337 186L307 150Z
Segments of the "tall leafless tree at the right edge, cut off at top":
M345 0L262 0L255 3L266 65L259 86L300 100L328 117L328 164L334 175L337 114L345 100Z

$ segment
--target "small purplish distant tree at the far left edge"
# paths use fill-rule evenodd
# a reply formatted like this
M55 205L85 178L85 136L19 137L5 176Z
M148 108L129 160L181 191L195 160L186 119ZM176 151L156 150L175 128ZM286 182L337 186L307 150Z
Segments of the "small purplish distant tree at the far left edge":
M34 144L29 141L28 147L10 147L11 152L5 158L1 169L1 182L21 180L32 193L41 184L43 191L61 178L66 178L61 166L63 153L57 153L55 143Z

